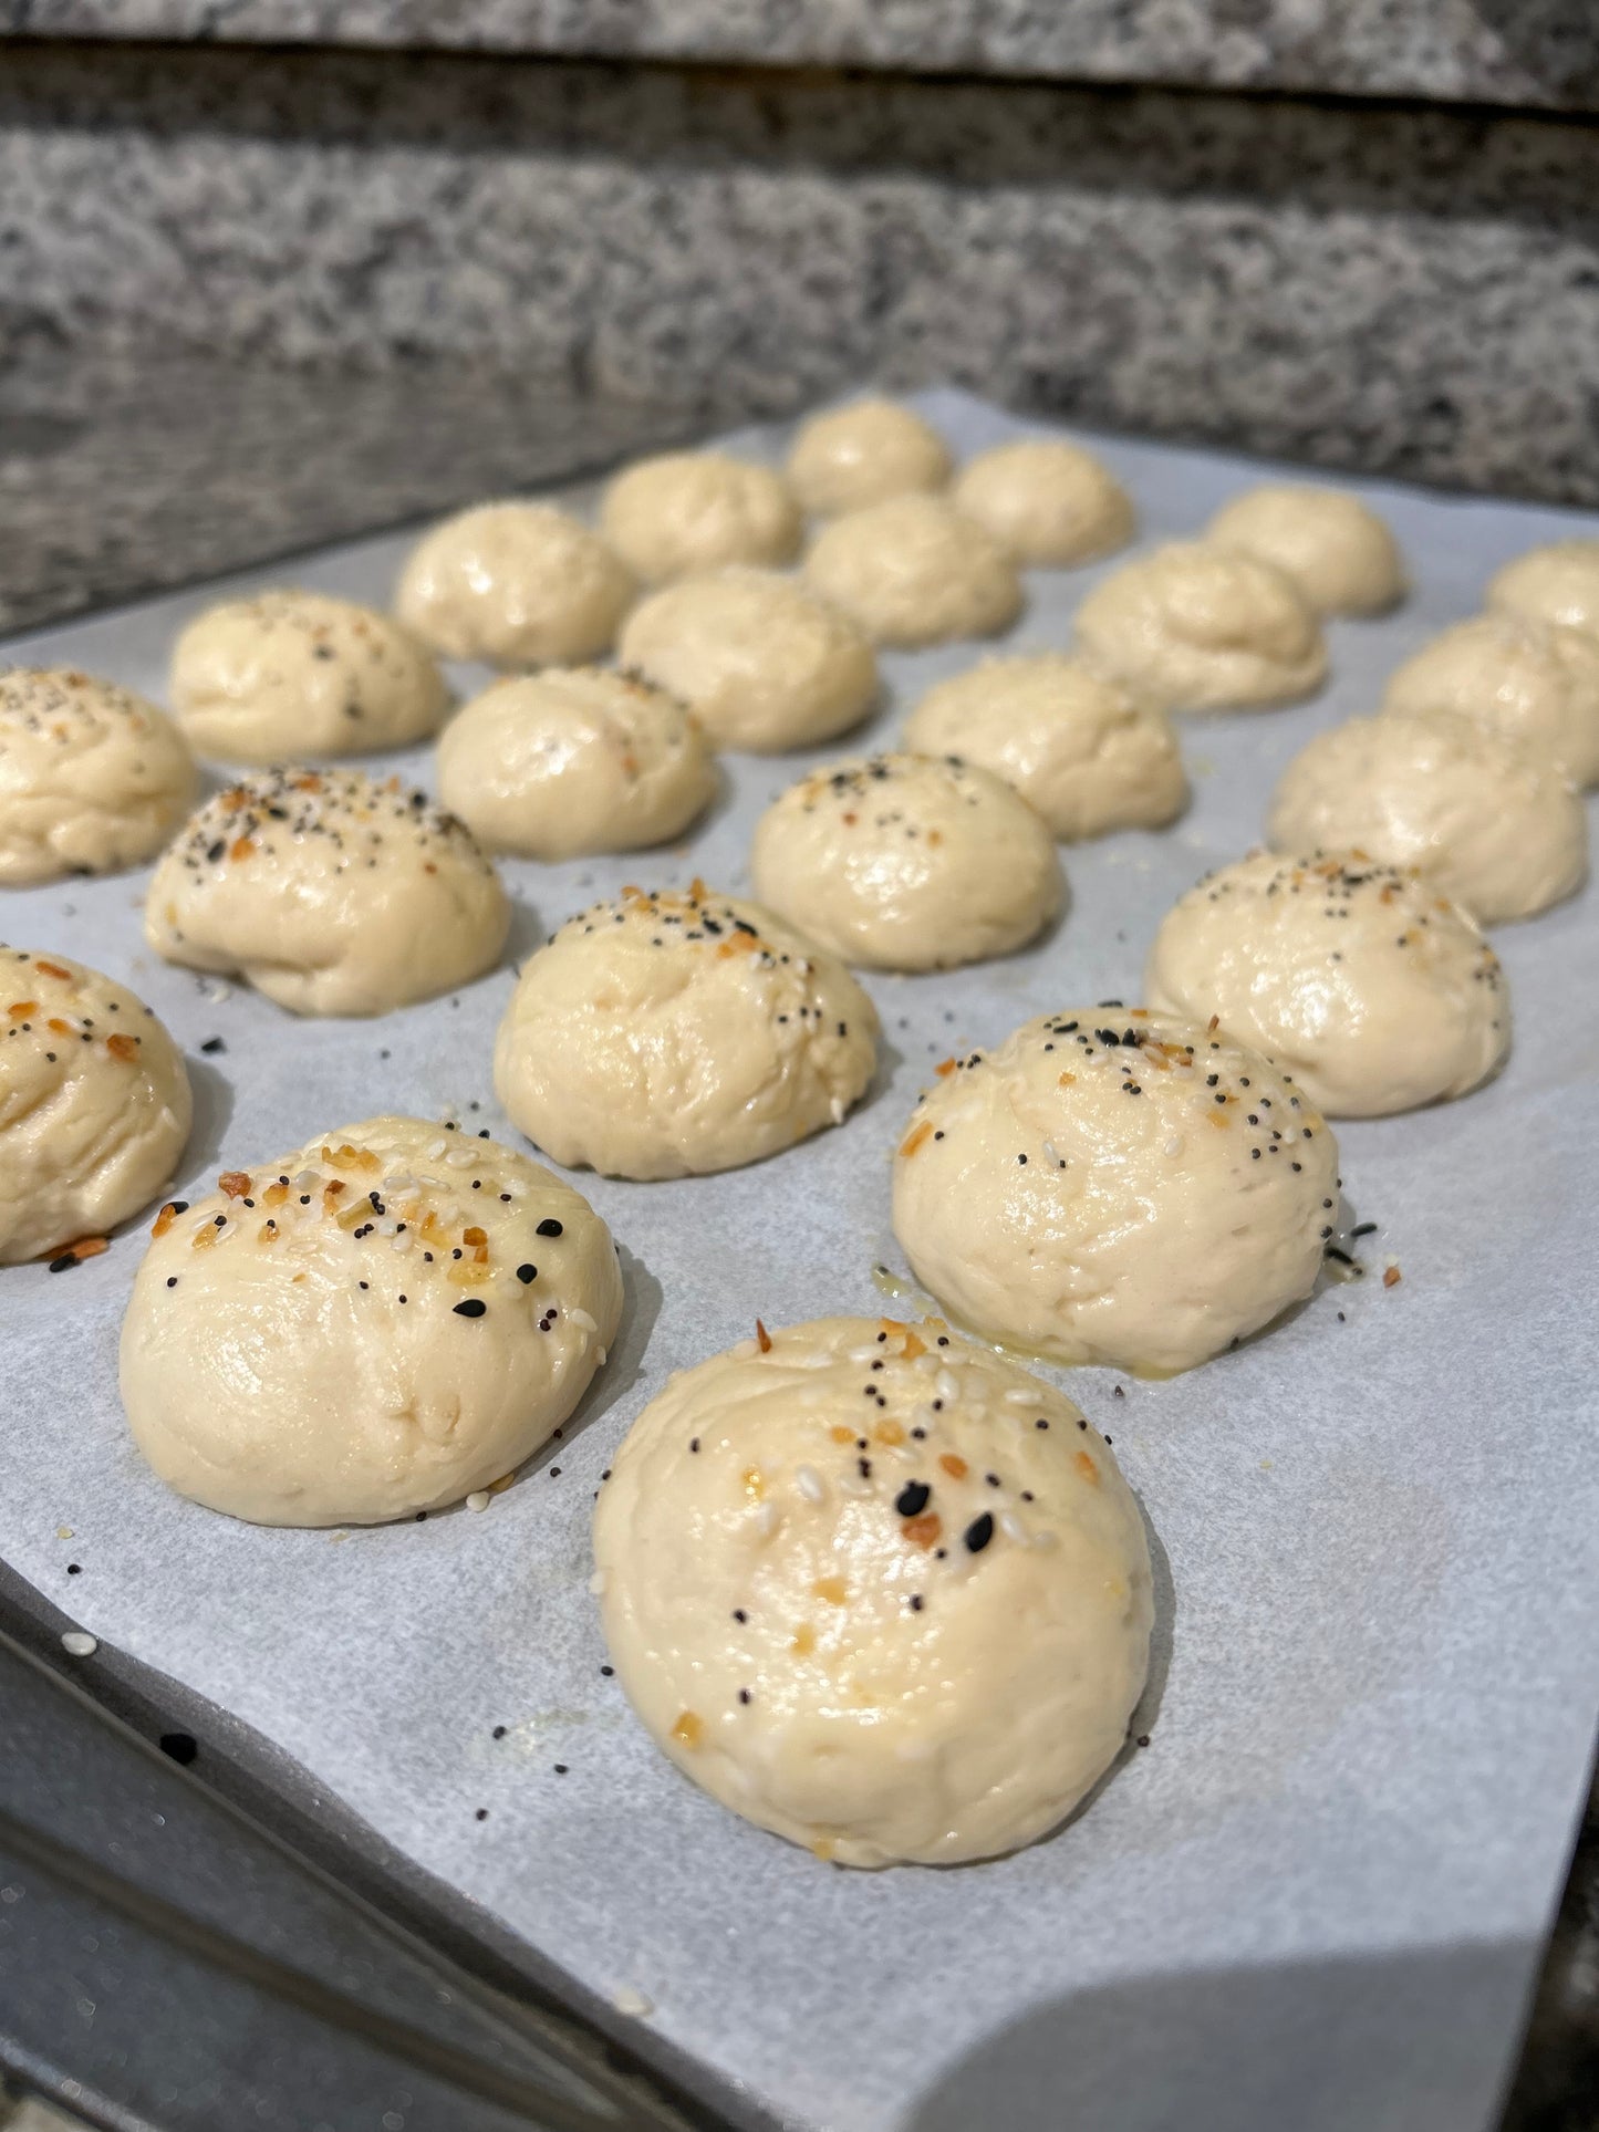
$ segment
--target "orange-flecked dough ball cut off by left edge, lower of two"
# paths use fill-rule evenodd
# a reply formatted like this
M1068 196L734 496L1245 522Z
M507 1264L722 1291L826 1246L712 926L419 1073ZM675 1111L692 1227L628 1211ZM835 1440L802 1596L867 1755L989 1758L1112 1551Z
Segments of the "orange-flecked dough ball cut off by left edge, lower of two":
M190 1113L183 1053L143 1000L66 955L0 947L0 1264L98 1243L147 1207Z

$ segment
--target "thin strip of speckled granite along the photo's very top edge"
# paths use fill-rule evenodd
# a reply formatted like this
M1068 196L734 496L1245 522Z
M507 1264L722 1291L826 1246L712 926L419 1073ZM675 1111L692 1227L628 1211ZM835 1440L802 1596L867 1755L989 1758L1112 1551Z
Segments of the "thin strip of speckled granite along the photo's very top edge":
M1599 98L1590 0L0 0L4 30Z

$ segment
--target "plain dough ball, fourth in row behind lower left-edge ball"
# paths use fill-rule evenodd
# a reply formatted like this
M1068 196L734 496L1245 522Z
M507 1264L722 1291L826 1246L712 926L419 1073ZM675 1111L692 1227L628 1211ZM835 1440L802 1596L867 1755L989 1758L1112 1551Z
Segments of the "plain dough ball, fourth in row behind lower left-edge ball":
M878 693L857 625L770 569L733 565L652 593L629 614L618 657L691 704L718 748L755 755L834 740Z

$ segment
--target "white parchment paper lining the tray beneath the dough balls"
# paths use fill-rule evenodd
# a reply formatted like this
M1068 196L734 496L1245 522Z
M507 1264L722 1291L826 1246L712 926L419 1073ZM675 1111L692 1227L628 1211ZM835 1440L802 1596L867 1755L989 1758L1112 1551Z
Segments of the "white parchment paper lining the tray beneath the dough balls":
M962 450L1043 426L955 392L919 405ZM782 431L738 443L776 454ZM1260 478L1211 452L1094 443L1145 539L1196 529ZM115 1394L143 1224L70 1275L0 1277L6 1561L288 1750L601 2000L648 2006L640 2045L689 2051L753 2115L836 2132L1492 2119L1599 1708L1593 889L1495 936L1518 1040L1492 1087L1339 1128L1350 1217L1379 1224L1362 1249L1375 1271L1403 1266L1396 1288L1326 1288L1269 1339L1168 1384L1064 1373L1158 1535L1160 1625L1151 1746L1053 1840L953 1872L851 1874L746 1827L655 1753L601 1676L586 1590L599 1473L672 1369L757 1313L893 1307L874 1275L902 1271L887 1160L932 1062L1045 1008L1134 1000L1160 915L1258 840L1305 738L1371 708L1503 559L1595 531L1567 512L1350 486L1394 524L1414 599L1332 625L1315 704L1185 721L1190 814L1068 851L1072 906L1047 942L942 976L870 974L885 1068L842 1130L725 1177L576 1179L623 1247L625 1332L563 1439L486 1514L330 1535L183 1503L134 1456ZM405 546L358 542L226 588L288 578L384 601ZM1008 642L1062 644L1107 567L1032 574ZM173 633L220 591L4 655L160 699ZM887 744L925 684L979 655L889 657L866 740ZM384 1021L294 1021L160 964L141 942L145 874L9 891L0 923L128 979L188 1047L188 1185L377 1109L516 1141L490 1087L512 959L625 878L740 889L755 812L821 759L725 757L725 797L682 849L507 861L507 964ZM426 750L386 763L433 782ZM215 1036L226 1051L200 1055Z

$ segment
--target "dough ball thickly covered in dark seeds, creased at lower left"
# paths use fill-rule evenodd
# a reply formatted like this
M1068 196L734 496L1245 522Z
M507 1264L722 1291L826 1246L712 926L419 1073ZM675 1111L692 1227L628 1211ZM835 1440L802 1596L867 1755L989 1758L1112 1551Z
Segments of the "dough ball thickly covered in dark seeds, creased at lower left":
M471 834L399 778L262 770L209 800L145 898L145 940L296 1015L386 1015L482 976L512 906Z

